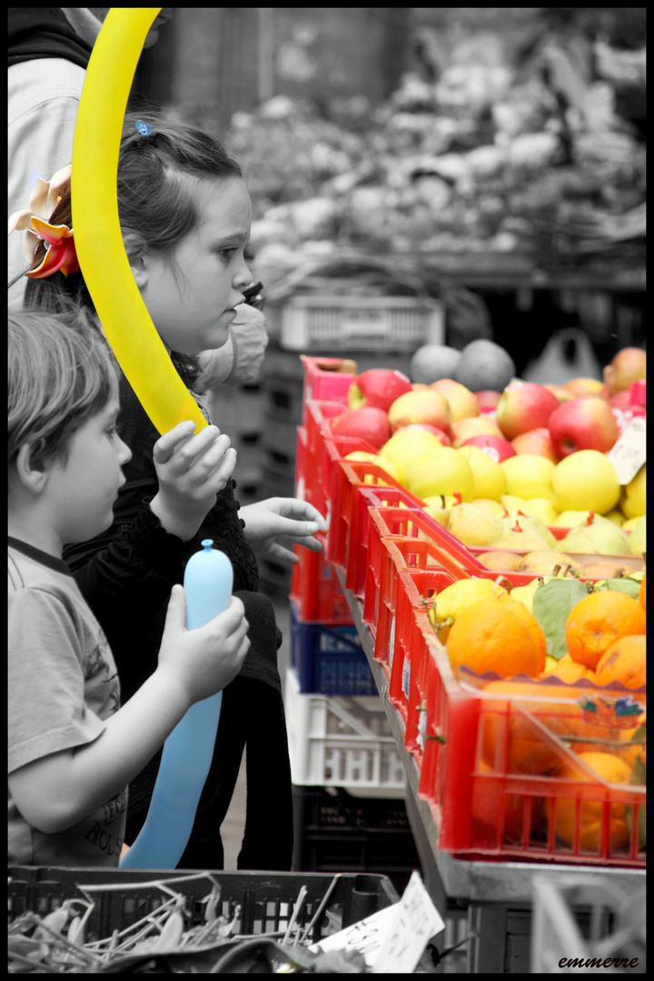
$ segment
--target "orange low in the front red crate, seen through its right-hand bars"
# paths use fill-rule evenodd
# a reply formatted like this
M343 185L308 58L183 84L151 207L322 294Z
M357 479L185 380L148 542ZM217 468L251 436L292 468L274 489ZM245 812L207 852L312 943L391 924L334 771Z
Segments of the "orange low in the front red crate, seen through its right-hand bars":
M610 752L580 752L579 759L593 770L597 776L608 784L629 784L631 768L618 756ZM583 776L572 767L564 766L558 777L568 780L591 782L591 778ZM605 797L603 787L597 789L598 798ZM573 794L574 792L571 792ZM577 801L570 798L557 798L554 801L554 828L557 837L566 845L572 846L575 841L575 822L579 806L579 850L583 852L598 852L601 840L601 827L604 806L600 800ZM611 852L620 852L629 847L629 827L627 825L627 804L612 803L610 809L611 827L609 842Z

